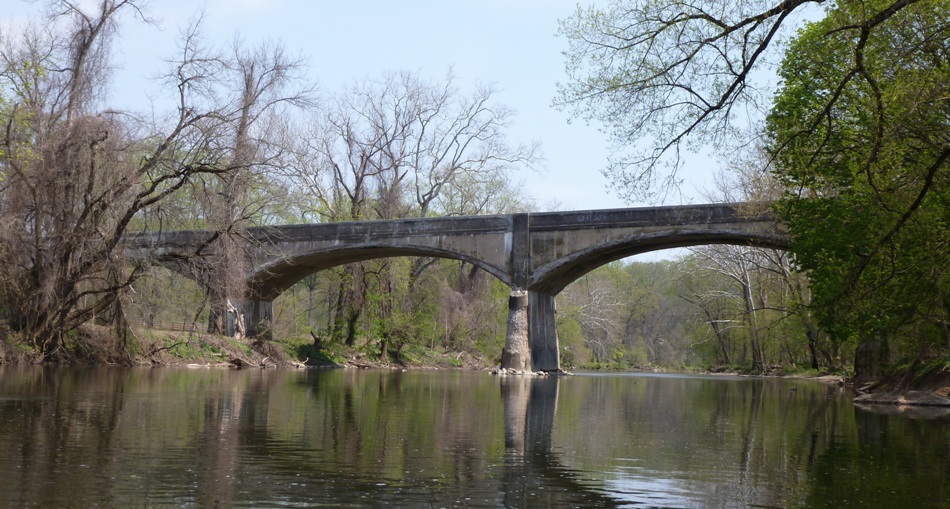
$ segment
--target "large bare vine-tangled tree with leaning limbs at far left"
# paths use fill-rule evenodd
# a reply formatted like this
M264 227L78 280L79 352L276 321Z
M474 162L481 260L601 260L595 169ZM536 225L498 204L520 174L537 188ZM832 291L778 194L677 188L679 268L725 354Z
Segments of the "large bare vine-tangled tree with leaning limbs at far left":
M0 232L9 263L4 310L45 355L64 334L114 304L139 274L116 260L136 214L174 192L202 161L165 157L203 116L179 115L144 150L119 115L95 112L106 78L109 36L130 1L102 0L92 12L52 5L50 26L3 41ZM65 28L64 28L65 26ZM144 156L144 157L142 157Z

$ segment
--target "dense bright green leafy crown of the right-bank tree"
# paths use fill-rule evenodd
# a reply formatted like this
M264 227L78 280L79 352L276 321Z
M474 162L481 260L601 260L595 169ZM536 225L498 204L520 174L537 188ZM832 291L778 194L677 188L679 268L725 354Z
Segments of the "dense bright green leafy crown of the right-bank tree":
M779 210L839 343L950 348L948 19L945 1L839 2L780 68L767 122Z

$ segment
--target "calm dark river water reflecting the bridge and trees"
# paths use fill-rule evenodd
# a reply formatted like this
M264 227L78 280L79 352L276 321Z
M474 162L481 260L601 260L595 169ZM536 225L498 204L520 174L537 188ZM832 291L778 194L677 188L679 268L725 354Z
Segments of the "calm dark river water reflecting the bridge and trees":
M950 420L811 381L0 366L0 506L950 507Z

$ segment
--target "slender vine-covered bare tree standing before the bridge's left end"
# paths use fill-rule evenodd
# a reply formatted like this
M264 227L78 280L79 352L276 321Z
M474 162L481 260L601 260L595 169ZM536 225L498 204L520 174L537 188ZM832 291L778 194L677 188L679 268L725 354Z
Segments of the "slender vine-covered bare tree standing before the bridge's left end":
M197 37L197 30L196 24L188 38ZM248 50L238 39L232 43L230 56L215 60L220 62L225 86L236 92L236 103L232 132L221 147L228 153L230 170L205 182L199 194L209 212L208 226L218 233L210 246L214 259L205 264L211 302L208 332L234 335L244 327L234 322L240 322L239 307L247 298L245 231L271 201L254 194L267 189L268 168L286 159L287 143L275 134L280 133L277 119L288 114L285 107L309 106L311 90L295 89L303 81L299 75L303 63L290 58L279 44ZM227 319L229 308L238 310L231 320Z

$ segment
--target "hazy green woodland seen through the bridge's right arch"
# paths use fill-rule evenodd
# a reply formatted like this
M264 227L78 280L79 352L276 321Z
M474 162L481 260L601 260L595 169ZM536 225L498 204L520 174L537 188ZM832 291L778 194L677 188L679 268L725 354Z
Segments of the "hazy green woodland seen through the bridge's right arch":
M803 284L784 254L750 248L697 249L675 263L614 262L558 296L562 362L746 372L815 363L831 370L836 356L828 345L819 342L815 358L809 349Z

